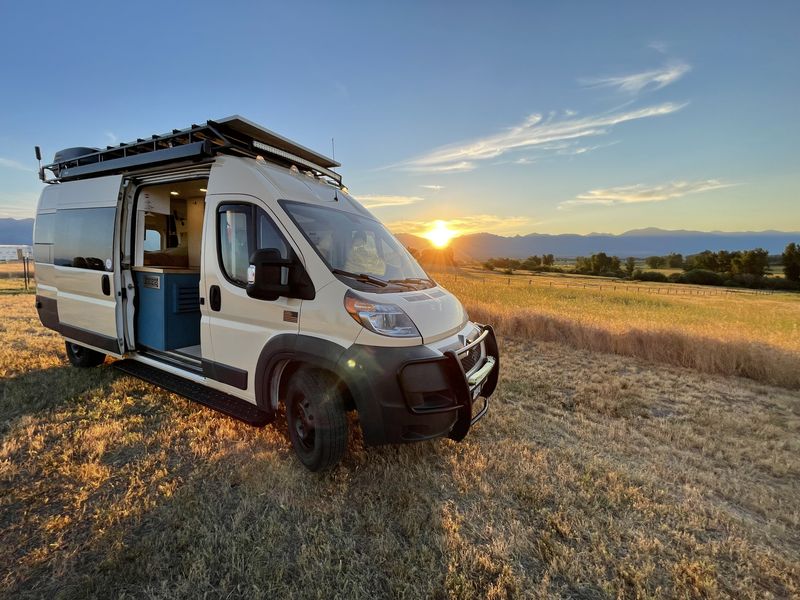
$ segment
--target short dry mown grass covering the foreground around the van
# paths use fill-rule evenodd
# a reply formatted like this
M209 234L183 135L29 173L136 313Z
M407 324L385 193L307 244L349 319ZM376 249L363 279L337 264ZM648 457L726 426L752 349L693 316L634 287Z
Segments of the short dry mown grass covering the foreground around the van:
M284 426L68 366L33 297L5 289L0 596L800 595L797 391L504 322L464 442L366 450L356 431L311 474ZM555 302L571 318L600 300Z

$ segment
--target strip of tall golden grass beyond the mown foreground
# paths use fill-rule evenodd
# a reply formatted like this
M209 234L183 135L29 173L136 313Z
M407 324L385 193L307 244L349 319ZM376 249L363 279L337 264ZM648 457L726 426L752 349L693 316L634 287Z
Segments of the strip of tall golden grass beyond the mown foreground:
M463 272L436 278L471 318L506 335L800 388L800 294L656 295L614 290L610 281L599 290L548 277L532 285Z

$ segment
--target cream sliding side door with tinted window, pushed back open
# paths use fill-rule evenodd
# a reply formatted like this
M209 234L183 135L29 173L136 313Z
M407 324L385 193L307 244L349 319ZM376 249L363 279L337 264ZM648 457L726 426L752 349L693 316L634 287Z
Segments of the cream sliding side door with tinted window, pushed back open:
M58 194L53 244L58 331L120 355L119 265L121 175L52 186ZM48 190L49 191L49 190Z

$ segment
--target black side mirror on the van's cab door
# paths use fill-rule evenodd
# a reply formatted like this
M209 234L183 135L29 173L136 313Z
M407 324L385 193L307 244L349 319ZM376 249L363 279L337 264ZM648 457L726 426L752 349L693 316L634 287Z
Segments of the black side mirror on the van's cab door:
M289 258L282 258L277 248L262 248L250 255L247 295L270 301L281 296L313 300L315 292L308 272L291 250Z

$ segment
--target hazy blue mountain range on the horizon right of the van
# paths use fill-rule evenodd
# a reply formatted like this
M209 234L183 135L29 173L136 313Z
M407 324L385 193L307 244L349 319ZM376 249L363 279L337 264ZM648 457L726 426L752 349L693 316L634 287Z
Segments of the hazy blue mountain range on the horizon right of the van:
M430 242L410 234L397 236L413 248L427 248ZM800 242L800 232L784 231L669 231L648 227L614 235L591 233L578 235L565 233L549 235L530 233L504 237L491 233L474 233L455 238L451 243L459 260L484 260L507 256L525 258L534 254L554 254L572 258L597 252L619 257L645 257L679 252L696 254L703 250L750 250L765 248L770 254L780 254L789 242Z

